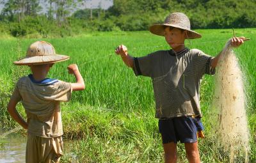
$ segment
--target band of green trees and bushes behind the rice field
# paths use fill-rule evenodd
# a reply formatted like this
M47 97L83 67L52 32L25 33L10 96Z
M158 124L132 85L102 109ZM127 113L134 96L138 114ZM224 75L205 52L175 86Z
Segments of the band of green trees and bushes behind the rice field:
M88 31L142 31L163 22L172 12L184 12L192 29L238 28L256 26L254 0L115 0L108 10L100 8L70 10L80 1L47 0L47 14L38 0L8 0L0 15L0 32L12 36L54 37L79 35ZM25 8L26 10L22 10ZM246 9L246 10L241 10Z

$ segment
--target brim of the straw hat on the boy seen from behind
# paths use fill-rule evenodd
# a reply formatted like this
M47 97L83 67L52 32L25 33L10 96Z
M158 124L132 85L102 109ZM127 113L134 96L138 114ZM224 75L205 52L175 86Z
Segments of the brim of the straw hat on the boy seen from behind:
M44 65L48 63L56 63L61 61L67 61L69 56L54 54L44 56L33 56L22 58L19 61L13 62L15 65Z

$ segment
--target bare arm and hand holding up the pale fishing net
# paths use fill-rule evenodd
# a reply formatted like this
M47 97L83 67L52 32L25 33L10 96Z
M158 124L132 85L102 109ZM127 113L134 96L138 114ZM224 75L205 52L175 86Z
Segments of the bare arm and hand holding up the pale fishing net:
M241 37L232 37L228 43L230 43L230 45L232 47L239 47L240 45L242 45L244 43L244 40L245 40L245 37L244 36L241 36ZM221 55L223 54L223 50L221 50L221 52L216 56L214 57L212 60L211 60L211 66L213 68L215 68L217 65L218 65L218 61L221 57Z

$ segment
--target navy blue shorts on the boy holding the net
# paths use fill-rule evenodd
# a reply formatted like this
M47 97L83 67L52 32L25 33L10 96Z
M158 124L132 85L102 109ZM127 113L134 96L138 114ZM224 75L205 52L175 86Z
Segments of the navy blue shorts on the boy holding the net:
M158 121L159 132L163 144L166 143L195 143L197 129L191 116L180 116Z

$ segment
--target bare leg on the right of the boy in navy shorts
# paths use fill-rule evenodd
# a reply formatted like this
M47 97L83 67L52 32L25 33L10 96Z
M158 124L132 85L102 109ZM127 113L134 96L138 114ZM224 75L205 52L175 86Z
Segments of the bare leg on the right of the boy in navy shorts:
M200 163L198 143L184 143L189 163Z

